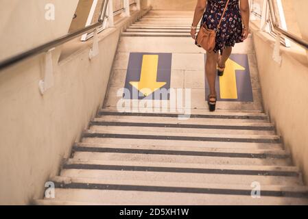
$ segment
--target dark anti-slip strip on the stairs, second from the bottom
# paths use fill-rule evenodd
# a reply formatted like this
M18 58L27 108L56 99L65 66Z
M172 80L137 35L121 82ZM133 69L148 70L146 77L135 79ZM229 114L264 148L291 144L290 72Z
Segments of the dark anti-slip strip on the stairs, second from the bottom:
M275 170L228 170L228 169L206 169L206 168L176 168L156 166L116 166L99 164L64 164L64 169L76 170L115 170L115 171L137 171L137 172L177 172L196 174L217 174L217 175L253 175L272 177L298 177L296 171L275 171Z

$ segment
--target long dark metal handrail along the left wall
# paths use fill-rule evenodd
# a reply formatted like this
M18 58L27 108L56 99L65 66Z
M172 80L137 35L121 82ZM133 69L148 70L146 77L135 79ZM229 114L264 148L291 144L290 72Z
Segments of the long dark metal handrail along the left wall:
M12 66L13 64L16 64L17 62L21 62L29 57L39 55L40 53L44 53L49 51L50 49L53 49L55 47L60 46L61 44L64 44L65 42L69 42L70 40L73 40L75 38L78 38L78 36L82 36L83 34L87 34L89 31L93 31L97 27L100 27L104 23L104 19L106 17L106 10L109 0L103 0L102 2L102 8L99 11L99 18L97 23L93 25L89 25L87 27L84 27L82 29L79 29L71 34L67 34L65 36L62 36L56 40L52 40L50 42L47 42L43 45L40 45L38 47L35 47L34 49L29 49L28 51L25 51L19 55L14 55L13 57L10 57L2 62L0 62L0 70L3 70L4 68L8 68L9 66Z

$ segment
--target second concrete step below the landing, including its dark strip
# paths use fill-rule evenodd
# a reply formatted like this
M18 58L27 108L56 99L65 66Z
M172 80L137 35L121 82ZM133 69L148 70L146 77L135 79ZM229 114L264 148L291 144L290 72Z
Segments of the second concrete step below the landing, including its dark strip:
M169 124L169 123L131 123L131 122L104 122L93 120L91 131L117 130L117 131L154 131L157 133L228 133L230 135L274 135L272 127L262 126L228 126L228 125L190 125L190 124ZM233 129L234 127L234 129ZM272 130L269 130L272 129Z

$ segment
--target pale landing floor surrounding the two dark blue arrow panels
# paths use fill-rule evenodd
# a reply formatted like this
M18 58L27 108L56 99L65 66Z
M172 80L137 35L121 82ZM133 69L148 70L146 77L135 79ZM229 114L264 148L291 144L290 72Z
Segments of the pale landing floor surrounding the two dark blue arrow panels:
M171 53L171 88L190 88L190 108L208 109L205 90L204 50L196 47L191 38L126 36L122 36L119 42L105 107L117 107L117 103L122 99L121 96L117 96L117 92L125 87L130 53ZM248 55L254 101L220 101L217 103L217 110L262 112L261 88L252 38L249 37L245 42L236 44L233 53ZM171 108L170 101L160 102L166 103L168 108ZM130 107L130 105L126 105L126 107Z

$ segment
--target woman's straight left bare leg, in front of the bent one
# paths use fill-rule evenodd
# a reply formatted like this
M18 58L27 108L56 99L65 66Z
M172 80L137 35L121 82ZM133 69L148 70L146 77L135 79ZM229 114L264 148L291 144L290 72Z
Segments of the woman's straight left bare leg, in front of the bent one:
M206 53L206 78L209 82L210 94L216 95L216 76L217 76L217 60L218 60L218 53ZM215 99L210 99L210 101L215 101Z

